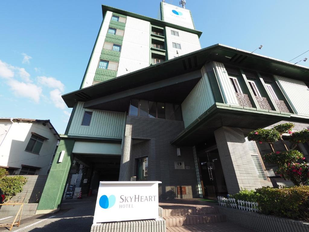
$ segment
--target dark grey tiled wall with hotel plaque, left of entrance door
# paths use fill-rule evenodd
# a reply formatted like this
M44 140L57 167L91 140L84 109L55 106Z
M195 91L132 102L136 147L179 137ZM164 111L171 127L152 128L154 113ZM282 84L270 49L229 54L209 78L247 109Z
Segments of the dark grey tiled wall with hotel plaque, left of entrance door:
M148 156L147 180L162 182L159 184L161 199L199 197L192 147L181 147L181 156L177 156L177 147L170 144L183 129L183 121L132 116L126 120L125 137L132 139L128 175L136 175L136 158ZM134 140L145 141L134 144ZM123 154L128 154L130 146L123 147ZM180 161L187 169L175 169L174 162ZM177 186L186 187L186 194L178 195Z

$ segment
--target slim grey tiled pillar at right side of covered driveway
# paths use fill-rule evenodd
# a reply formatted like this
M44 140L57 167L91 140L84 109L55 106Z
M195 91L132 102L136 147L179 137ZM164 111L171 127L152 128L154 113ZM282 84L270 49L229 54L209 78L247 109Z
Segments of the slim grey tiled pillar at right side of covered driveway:
M132 137L125 135L120 161L119 181L130 181L130 157L132 150Z

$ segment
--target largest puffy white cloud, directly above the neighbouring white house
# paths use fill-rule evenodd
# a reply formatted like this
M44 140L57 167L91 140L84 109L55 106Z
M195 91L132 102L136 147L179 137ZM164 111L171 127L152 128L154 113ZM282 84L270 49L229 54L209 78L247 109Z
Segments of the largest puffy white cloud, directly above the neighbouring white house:
M9 80L7 84L11 87L15 96L30 98L36 103L40 101L42 88L31 83L19 82L17 80Z

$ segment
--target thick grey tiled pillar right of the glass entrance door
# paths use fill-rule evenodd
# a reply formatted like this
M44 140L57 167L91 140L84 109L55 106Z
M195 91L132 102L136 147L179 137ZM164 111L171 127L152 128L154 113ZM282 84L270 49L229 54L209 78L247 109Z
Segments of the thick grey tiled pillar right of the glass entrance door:
M214 135L228 193L237 193L241 188L260 188L260 179L243 131L239 128L221 127L214 131Z

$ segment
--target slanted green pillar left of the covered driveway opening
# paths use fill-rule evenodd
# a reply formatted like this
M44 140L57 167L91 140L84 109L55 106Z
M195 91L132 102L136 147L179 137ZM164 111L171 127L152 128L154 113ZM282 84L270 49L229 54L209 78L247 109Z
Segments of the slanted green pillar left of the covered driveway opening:
M75 140L61 139L36 214L54 213L60 209L66 181L74 160L72 154L74 143ZM61 151L65 151L64 157L62 162L58 162Z

